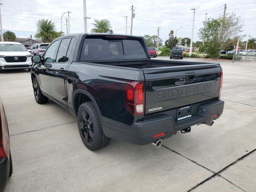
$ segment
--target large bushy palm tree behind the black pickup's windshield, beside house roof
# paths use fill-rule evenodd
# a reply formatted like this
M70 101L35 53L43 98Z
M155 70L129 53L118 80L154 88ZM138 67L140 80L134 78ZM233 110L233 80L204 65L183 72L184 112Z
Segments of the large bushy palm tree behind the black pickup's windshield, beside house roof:
M48 19L38 20L36 38L41 38L44 43L52 42L54 39L60 36L60 33L55 31L55 24Z

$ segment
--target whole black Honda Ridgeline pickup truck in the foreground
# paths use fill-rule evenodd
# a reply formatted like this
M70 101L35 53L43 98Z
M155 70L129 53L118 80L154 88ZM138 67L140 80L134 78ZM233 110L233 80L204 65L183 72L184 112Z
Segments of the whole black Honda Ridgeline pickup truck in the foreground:
M140 36L69 34L32 61L36 102L50 98L76 116L90 150L111 138L160 146L223 111L220 64L152 60Z

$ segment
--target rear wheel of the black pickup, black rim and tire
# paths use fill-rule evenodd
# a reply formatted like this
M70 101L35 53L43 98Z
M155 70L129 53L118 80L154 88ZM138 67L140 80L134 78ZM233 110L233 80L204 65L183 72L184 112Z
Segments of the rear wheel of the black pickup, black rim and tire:
M77 124L84 145L94 151L106 147L111 138L105 136L98 113L92 102L80 105L77 114Z

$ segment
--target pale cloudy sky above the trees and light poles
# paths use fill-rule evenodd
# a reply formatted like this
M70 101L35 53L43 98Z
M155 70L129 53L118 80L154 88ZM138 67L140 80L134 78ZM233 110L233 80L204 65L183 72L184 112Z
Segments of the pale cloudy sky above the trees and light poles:
M83 0L0 0L3 30L13 31L16 37L34 36L37 31L36 22L39 19L52 20L56 30L66 33L66 18L70 13L70 33L84 32ZM193 41L200 40L198 30L202 28L205 14L207 18L217 18L223 15L224 4L226 13L234 12L243 19L241 35L256 37L256 0L86 0L88 32L93 28L94 19L108 19L114 33L126 33L126 18L128 34L131 26L131 6L134 5L133 35L157 35L163 42L168 38L170 30L176 30L177 37L192 36L192 8L196 8Z

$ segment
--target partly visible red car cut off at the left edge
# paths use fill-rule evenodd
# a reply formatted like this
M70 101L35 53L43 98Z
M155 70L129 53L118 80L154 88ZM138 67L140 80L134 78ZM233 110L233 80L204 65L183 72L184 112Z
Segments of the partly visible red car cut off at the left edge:
M0 97L0 192L4 191L10 176L12 176L12 157L10 153L8 124Z

